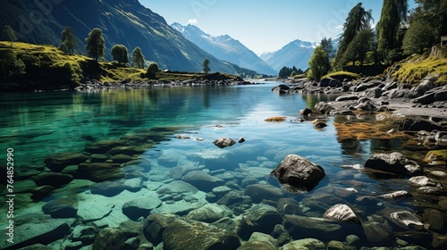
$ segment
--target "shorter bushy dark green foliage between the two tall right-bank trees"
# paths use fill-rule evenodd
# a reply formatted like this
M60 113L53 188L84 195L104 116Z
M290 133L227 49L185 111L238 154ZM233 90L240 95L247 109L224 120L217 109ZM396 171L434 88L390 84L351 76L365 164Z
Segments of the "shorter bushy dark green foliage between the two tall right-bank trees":
M355 66L356 61L359 61L360 66L363 66L367 57L367 52L371 51L373 48L374 37L374 32L371 29L359 31L350 43L350 46L346 49L342 58L342 63L352 62Z

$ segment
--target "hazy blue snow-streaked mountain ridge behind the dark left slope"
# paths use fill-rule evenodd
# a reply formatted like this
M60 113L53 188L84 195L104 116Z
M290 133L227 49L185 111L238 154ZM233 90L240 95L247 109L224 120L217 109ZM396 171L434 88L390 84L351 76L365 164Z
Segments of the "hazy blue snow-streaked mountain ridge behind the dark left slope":
M234 63L240 67L262 74L277 74L277 71L260 59L257 54L241 44L240 41L228 35L213 37L191 24L183 26L174 22L171 26L181 32L183 37L223 61Z

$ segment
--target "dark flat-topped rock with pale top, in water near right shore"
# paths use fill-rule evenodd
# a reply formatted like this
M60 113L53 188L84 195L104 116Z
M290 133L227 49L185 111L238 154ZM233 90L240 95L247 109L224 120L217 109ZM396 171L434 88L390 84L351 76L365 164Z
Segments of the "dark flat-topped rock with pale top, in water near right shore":
M384 171L401 176L417 176L423 173L417 162L410 161L401 153L372 154L365 167L375 171Z

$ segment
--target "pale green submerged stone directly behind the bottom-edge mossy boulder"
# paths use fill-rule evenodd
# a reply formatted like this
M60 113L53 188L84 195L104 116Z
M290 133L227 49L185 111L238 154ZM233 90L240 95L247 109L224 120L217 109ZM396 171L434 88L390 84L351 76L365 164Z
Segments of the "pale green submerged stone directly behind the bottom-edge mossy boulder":
M187 219L212 223L232 215L232 210L224 205L205 204L188 213Z

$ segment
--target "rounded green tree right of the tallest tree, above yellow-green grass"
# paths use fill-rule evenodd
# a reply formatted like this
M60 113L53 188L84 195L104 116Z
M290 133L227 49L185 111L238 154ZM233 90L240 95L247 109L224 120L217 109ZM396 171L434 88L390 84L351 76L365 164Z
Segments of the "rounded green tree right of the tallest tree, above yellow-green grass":
M405 37L403 37L403 50L405 54L422 54L426 47L434 42L434 28L426 22L415 21L410 24Z

